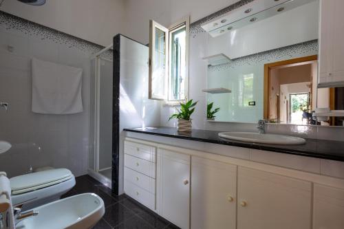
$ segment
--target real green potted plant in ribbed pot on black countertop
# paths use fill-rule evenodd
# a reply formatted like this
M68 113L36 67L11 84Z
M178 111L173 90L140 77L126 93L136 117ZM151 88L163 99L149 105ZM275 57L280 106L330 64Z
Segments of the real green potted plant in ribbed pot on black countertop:
M180 102L180 109L175 108L178 113L173 113L173 115L169 118L178 119L178 131L179 132L191 132L192 129L192 121L191 121L191 114L195 111L195 106L197 102L193 102L193 100L189 100L183 103Z

